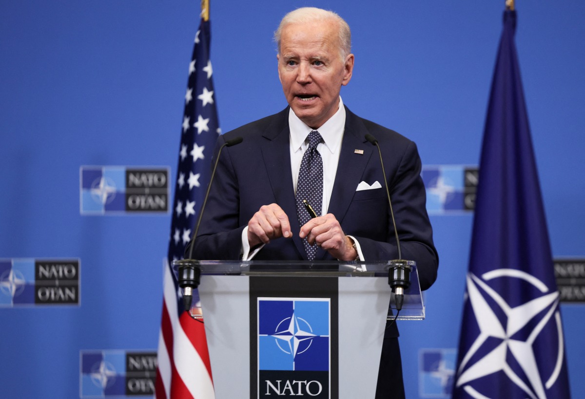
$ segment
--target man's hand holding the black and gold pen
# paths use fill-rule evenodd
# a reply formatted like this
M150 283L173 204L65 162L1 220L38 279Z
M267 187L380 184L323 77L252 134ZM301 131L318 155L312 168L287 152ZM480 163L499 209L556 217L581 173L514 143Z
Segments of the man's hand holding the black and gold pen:
M300 236L307 237L311 245L316 242L340 261L355 261L357 258L352 239L343 234L339 221L331 213L309 220L301 227Z

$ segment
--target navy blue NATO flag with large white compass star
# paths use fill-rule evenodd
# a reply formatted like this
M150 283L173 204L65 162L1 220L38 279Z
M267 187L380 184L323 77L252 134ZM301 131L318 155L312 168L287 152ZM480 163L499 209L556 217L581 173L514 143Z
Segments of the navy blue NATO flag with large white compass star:
M504 12L481 150L453 398L569 398L552 254Z

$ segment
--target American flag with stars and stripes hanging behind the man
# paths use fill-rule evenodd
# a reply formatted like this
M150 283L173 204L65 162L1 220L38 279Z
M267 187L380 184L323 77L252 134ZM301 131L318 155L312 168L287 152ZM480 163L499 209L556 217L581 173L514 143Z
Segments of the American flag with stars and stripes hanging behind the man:
M171 262L183 258L210 177L212 151L219 130L211 61L209 21L201 19L185 92L185 112L177 184L164 273L163 315L159 335L157 398L215 398L202 322L183 311L183 299ZM198 295L194 293L194 301Z

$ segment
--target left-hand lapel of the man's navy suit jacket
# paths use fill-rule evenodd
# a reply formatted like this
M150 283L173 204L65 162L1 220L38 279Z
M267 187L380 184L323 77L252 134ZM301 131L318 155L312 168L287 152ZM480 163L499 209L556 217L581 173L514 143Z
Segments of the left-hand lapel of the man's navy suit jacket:
M298 225L297 205L292 185L288 107L280 113L278 122L272 124L264 132L263 137L268 140L262 145L262 156L276 203L288 216L292 241L297 247L297 251L303 259L307 259L307 252L305 252L301 238L298 237L301 228Z

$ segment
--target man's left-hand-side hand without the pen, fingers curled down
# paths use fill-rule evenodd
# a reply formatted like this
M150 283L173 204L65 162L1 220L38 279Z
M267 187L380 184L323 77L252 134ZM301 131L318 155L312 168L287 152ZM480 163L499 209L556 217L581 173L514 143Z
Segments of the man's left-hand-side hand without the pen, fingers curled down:
M280 237L292 237L287 214L277 204L263 205L248 222L250 248Z

